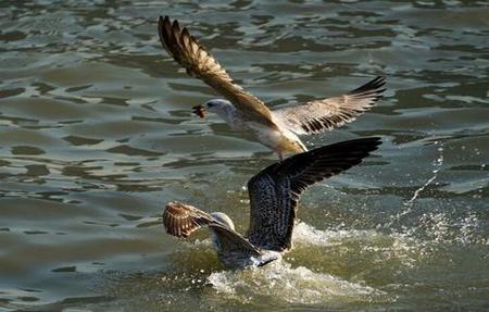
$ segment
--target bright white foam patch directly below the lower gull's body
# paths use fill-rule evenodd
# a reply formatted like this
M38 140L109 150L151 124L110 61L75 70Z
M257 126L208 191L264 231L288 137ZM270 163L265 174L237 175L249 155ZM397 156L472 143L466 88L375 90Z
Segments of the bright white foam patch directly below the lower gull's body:
M316 304L322 302L385 301L386 292L343 280L329 274L276 261L261 270L212 273L208 282L226 299L248 303L267 297L277 303Z

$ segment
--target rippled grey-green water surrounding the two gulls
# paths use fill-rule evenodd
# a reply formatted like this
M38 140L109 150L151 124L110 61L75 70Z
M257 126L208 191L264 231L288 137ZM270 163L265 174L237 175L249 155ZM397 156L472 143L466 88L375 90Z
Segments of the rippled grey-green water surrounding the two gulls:
M489 309L487 2L0 2L0 310ZM162 52L160 14L271 105L387 76L308 138L384 145L304 195L283 262L226 272L205 232L160 225L181 200L244 230L243 186L276 160L191 115L215 95Z

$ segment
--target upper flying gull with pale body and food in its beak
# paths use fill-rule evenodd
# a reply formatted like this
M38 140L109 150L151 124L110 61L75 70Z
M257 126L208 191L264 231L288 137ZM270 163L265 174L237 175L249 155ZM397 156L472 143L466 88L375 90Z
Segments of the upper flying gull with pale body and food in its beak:
M338 97L269 110L263 101L247 92L227 74L190 32L180 28L178 21L160 16L158 33L163 48L191 76L202 79L225 99L213 99L192 110L200 117L214 112L234 130L251 134L274 150L279 159L284 154L306 151L298 135L319 134L352 122L371 109L385 91L384 77Z

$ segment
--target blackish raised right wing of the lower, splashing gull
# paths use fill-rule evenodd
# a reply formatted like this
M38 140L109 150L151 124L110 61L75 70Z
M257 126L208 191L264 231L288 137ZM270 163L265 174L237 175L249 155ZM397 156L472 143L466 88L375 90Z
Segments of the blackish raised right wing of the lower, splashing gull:
M359 164L378 145L380 139L373 137L321 147L275 163L253 176L248 182L249 241L262 249L290 249L301 194L314 183Z

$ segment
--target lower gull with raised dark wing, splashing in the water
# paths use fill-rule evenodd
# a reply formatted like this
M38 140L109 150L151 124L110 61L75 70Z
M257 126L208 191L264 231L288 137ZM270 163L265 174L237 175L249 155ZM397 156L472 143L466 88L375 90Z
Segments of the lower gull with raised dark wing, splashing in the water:
M235 230L225 213L206 213L177 201L166 204L163 225L176 237L209 227L217 257L228 269L265 265L292 248L301 194L361 163L379 145L378 137L342 141L294 154L261 171L248 182L250 225L244 236Z

